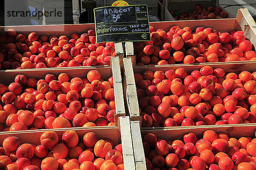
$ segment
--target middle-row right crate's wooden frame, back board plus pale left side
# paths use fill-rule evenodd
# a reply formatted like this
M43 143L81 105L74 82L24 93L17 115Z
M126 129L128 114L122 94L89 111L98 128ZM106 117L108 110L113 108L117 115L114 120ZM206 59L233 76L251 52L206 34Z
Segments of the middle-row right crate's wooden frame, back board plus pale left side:
M176 70L177 68L184 68L188 74L194 70L200 70L202 67L208 65L213 69L222 68L225 73L238 73L241 71L256 71L256 62L254 61L244 61L244 62L224 62L224 63L204 63L203 64L180 64L180 65L148 65L148 66L134 66L132 65L132 58L124 58L124 94L125 94L125 104L127 107L127 112L131 117L131 120L141 121L142 118L139 112L139 103L137 99L137 91L134 79L134 73L142 74L143 71L167 71Z

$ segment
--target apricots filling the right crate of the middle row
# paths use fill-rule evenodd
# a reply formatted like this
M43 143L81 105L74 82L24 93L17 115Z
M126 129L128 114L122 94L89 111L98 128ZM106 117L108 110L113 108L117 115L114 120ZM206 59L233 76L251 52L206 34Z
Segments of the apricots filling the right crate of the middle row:
M134 73L143 127L256 123L256 72L204 66Z

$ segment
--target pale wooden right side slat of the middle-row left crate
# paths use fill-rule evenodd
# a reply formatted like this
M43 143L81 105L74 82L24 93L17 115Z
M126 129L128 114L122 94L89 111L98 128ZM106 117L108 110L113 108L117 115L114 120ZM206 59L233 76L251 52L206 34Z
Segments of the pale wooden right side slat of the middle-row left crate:
M119 57L111 57L111 68L114 82L114 96L115 96L115 125L117 125L117 118L119 116L125 116L125 102L124 94L122 90L122 77Z

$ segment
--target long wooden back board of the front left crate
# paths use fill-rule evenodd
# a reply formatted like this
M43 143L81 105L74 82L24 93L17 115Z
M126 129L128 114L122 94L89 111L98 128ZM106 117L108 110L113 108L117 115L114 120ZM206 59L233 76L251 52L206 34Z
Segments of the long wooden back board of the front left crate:
M60 128L60 129L41 129L41 130L22 130L11 132L0 132L0 146L3 140L8 136L17 136L20 138L21 143L40 144L40 136L45 131L52 130L58 134L59 141L61 142L62 134L67 130L75 130L82 139L87 132L94 132L99 139L109 138L113 141L114 145L118 144L118 128L116 126L107 127L73 127L73 128Z

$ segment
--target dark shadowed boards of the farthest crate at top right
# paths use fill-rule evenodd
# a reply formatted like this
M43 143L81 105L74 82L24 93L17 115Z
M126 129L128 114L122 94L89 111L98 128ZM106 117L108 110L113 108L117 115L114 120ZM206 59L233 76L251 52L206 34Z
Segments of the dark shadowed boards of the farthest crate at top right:
M195 11L195 6L201 4L203 8L208 8L209 6L218 7L219 0L165 0L165 7L168 11L174 11L174 14L181 15L182 13L193 13ZM221 6L220 6L221 7ZM228 18L234 18L230 12L222 8L222 11L227 12Z

